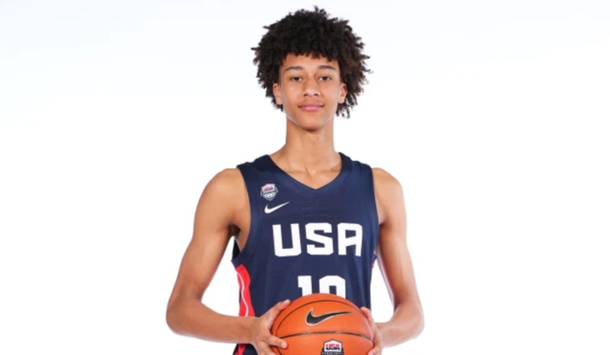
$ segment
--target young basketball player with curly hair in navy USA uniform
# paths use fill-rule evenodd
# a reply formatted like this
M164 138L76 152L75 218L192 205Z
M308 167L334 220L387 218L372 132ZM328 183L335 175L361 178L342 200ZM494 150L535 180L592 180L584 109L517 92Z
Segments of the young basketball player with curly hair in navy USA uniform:
M418 336L423 312L401 186L334 149L334 117L349 117L369 72L364 44L347 21L317 7L265 28L254 63L267 96L286 114L286 141L271 155L223 170L204 189L167 323L178 334L237 343L237 355L273 355L273 346L286 346L270 334L278 313L303 295L332 292L362 307L375 333L370 355L381 354ZM239 317L201 303L231 237ZM375 260L394 305L383 323L369 311Z

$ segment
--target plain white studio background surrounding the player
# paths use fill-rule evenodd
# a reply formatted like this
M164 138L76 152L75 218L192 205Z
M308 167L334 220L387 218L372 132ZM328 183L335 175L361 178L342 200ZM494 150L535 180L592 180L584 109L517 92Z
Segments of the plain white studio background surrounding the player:
M318 5L375 71L336 149L404 188L426 328L384 354L610 353L608 1ZM165 306L207 181L284 142L250 48L303 7L0 0L0 353L231 353Z

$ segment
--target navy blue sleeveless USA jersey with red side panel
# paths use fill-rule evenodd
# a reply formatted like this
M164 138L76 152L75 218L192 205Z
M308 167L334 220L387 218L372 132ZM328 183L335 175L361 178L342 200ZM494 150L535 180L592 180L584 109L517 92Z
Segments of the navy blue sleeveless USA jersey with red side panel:
M261 156L238 166L248 190L251 222L232 262L241 316L259 317L279 301L334 293L371 308L370 283L379 223L370 166L340 153L339 175L318 189ZM237 355L256 355L251 345Z

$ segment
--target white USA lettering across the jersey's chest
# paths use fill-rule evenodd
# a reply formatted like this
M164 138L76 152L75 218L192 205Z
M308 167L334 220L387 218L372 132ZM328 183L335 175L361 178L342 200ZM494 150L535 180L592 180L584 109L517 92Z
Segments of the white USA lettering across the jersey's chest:
M282 242L282 227L273 225L273 248L277 256L300 255L301 228L299 223L290 224L292 247L284 247ZM334 238L325 234L332 233L331 223L307 223L305 225L306 241L316 244L306 244L306 253L309 255L331 255L337 252L339 255L347 255L348 249L353 250L354 255L361 256L362 252L362 226L357 223L339 223L337 225L337 250L335 251Z

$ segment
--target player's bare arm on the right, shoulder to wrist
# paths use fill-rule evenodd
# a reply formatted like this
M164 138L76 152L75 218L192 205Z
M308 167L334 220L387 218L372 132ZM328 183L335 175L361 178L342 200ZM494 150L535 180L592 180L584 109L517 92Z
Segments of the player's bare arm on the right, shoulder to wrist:
M406 211L400 183L382 169L373 169L379 211L379 269L386 281L394 314L377 323L384 346L417 337L423 330L423 310L406 241Z

